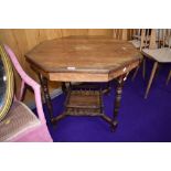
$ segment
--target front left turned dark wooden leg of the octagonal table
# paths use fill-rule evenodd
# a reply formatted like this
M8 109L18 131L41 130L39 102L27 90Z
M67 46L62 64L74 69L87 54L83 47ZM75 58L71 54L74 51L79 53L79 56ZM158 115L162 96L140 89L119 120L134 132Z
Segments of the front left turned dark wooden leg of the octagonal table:
M52 101L49 93L49 85L47 85L47 78L39 74L40 83L43 89L43 95L44 95L44 100L47 106L49 115L51 121L53 120L53 107L52 107Z

